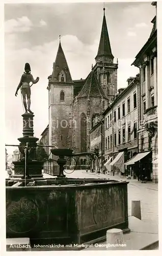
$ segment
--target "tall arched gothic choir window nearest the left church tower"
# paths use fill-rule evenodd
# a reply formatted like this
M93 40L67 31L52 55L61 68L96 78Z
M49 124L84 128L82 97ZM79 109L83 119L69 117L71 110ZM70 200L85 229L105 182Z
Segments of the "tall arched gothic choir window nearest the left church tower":
M87 118L84 113L80 116L80 152L87 151Z

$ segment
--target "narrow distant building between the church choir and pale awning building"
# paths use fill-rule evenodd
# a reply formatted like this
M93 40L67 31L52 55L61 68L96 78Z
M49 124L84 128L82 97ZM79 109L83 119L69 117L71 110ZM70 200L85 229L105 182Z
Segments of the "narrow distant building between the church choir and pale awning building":
M90 150L98 153L98 159L92 161L93 170L103 171L104 164L104 119L95 117L92 120L92 129L90 130Z

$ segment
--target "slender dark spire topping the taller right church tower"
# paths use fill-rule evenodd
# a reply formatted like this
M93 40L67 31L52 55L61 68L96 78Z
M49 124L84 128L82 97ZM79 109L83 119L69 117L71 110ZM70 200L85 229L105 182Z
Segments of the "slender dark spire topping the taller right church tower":
M98 56L109 56L111 58L114 58L114 56L112 54L112 50L111 50L109 33L107 30L106 18L105 18L104 11L105 11L105 8L103 8L102 30L101 30L100 42L99 42L98 53L97 53L96 58Z

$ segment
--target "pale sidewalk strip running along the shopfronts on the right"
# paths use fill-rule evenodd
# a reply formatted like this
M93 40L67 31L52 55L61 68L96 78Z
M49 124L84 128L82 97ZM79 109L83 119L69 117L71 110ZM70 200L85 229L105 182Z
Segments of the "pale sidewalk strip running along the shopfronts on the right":
M83 173L86 173L86 171L83 171ZM127 179L125 177L119 177L119 176L113 176L113 175L108 175L108 174L97 174L97 173L91 173L88 172L88 174L95 176L95 178L104 178L104 179L111 179L111 180L118 180L118 181L128 181L129 184L134 185L134 186L141 186L145 187L147 189L152 189L158 191L158 184L153 183L152 181L148 181L147 183L141 183L141 181L135 180L135 179Z

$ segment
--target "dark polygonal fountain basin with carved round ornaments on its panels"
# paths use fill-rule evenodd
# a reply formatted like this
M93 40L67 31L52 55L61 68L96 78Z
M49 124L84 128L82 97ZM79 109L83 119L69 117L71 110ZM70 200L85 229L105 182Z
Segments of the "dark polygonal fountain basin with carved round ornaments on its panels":
M128 230L128 182L65 180L7 186L7 238L29 237L32 246L67 245L99 241L113 227Z

